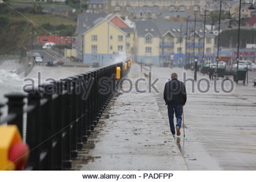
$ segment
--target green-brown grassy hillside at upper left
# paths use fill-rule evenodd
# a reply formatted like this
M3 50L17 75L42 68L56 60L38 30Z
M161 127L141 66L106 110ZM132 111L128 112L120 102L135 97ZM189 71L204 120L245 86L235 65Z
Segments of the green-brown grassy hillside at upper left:
M18 13L16 12L18 11ZM17 54L23 45L32 44L40 35L54 33L61 36L75 34L76 21L62 16L43 14L40 6L34 9L10 9L0 4L0 55Z

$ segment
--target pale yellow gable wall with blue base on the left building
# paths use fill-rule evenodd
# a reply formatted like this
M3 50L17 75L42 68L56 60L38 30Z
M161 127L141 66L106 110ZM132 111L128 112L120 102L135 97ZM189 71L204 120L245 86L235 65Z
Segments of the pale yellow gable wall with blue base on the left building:
M115 55L127 53L127 34L109 20L100 19L84 33L84 63L110 64Z

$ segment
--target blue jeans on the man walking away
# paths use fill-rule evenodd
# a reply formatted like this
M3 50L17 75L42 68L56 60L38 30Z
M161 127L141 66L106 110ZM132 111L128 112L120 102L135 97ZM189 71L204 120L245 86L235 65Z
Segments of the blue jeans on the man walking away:
M181 128L182 105L179 105L179 104L167 104L167 108L168 108L168 117L169 117L171 132L172 132L173 135L175 135L174 112L175 112L175 117L177 119L177 125L176 126L179 126Z

